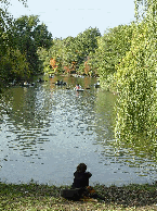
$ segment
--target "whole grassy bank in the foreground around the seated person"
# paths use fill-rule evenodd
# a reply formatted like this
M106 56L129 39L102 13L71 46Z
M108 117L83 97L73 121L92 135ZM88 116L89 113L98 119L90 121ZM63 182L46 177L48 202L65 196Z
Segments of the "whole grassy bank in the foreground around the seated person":
M48 186L0 183L1 210L157 210L157 184L128 185L122 187L95 185L105 201L70 201L60 196L69 186Z

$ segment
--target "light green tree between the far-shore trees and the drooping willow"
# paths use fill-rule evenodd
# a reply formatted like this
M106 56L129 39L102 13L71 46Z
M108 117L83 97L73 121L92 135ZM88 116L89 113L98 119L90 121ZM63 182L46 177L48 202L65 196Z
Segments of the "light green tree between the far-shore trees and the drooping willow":
M95 53L90 53L89 65L93 72L97 72L101 77L101 85L110 89L114 84L113 75L118 64L131 46L132 26L119 25L106 30L103 37L97 38L97 49ZM112 82L110 82L112 79Z

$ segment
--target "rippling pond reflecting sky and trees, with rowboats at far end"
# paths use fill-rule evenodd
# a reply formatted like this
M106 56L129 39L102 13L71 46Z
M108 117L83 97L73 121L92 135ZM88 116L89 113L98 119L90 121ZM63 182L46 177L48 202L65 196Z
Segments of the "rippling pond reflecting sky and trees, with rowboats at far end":
M1 95L0 182L70 185L80 162L92 173L90 185L157 181L154 160L115 145L115 95L94 88L96 78L43 79ZM84 91L74 90L77 83Z

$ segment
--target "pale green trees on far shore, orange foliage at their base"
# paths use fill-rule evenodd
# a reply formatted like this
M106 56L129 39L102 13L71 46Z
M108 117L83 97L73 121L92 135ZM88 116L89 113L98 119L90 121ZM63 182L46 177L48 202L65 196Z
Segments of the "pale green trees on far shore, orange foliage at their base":
M97 28L89 28L80 33L77 37L65 39L54 39L54 45L49 51L49 57L56 61L57 72L62 72L66 66L69 71L84 72L84 62L90 52L95 52L97 48L97 37L101 34Z

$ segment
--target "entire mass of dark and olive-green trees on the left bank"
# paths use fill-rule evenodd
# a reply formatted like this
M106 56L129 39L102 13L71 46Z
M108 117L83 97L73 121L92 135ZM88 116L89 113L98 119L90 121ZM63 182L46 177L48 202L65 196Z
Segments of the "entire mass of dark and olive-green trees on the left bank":
M26 7L26 0L21 0ZM51 33L44 24L39 25L38 16L22 16L14 20L8 13L10 1L1 0L0 9L0 88L14 78L28 78L41 72L37 49L49 49ZM40 67L40 69L39 69Z

